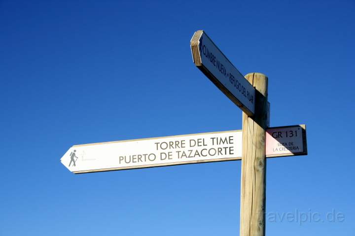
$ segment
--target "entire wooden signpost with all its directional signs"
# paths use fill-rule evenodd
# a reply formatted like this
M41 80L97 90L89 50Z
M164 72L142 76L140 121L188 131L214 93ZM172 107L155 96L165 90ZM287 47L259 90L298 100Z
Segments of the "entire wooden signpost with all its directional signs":
M243 111L243 130L75 145L61 162L75 174L242 160L241 236L265 236L266 158L307 155L306 126L268 128L268 78L245 77L203 30L190 41L199 68Z

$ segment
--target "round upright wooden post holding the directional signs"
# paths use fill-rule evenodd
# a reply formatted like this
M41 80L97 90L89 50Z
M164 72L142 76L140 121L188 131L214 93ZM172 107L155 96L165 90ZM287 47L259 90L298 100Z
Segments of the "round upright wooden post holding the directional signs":
M243 112L240 236L265 236L266 156L268 78L260 73L245 76L256 89L255 114Z

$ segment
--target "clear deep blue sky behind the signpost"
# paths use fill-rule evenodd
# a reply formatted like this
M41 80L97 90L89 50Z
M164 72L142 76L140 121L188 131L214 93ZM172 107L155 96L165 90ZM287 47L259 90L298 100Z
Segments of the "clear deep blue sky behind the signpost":
M271 126L308 156L267 161L273 236L355 235L354 0L0 1L1 236L236 236L241 162L73 175L75 144L242 128L193 64L204 29L269 77ZM328 212L344 215L324 220ZM297 213L294 213L297 214Z

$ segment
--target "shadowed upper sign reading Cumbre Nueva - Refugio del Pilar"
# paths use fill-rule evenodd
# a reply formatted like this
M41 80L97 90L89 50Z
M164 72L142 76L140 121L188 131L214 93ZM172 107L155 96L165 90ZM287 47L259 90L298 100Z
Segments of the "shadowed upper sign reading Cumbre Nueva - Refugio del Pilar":
M217 48L206 32L196 31L190 45L195 65L229 99L252 116L255 111L255 89Z

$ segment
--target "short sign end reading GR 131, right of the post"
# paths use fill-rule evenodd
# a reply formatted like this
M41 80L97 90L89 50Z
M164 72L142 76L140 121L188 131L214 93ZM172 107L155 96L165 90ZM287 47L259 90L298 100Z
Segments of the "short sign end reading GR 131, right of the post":
M307 155L306 125L273 127L266 130L266 156Z

